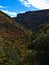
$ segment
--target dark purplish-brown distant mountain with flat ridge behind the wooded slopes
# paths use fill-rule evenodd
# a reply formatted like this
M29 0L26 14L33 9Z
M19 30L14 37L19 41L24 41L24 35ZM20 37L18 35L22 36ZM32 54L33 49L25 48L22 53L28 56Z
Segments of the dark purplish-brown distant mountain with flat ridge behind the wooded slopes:
M14 19L26 28L35 31L40 24L49 21L49 9L18 14Z

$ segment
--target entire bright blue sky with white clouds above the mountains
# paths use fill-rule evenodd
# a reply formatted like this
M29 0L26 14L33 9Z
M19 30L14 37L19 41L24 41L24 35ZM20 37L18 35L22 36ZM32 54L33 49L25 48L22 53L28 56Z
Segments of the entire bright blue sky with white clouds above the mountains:
M49 0L0 0L0 10L11 17L43 9L49 9Z

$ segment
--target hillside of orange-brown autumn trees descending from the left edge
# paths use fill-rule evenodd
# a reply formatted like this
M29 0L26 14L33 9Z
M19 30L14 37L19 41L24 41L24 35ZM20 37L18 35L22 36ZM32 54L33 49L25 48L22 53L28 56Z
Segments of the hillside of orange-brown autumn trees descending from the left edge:
M28 52L30 33L0 11L0 65L23 65L21 60Z

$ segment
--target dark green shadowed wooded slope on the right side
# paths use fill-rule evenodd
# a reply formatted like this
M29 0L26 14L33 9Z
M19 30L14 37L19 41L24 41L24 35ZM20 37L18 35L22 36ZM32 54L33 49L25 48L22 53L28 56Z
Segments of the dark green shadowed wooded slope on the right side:
M49 65L49 23L40 26L34 34L34 39L32 38L32 44L28 48L34 50L35 53L30 57L33 60L30 65Z

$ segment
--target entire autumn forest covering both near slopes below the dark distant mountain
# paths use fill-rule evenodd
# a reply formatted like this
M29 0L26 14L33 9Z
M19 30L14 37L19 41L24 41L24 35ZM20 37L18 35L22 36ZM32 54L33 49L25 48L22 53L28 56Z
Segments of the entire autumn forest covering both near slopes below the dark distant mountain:
M0 11L0 65L49 65L49 21L32 31Z

